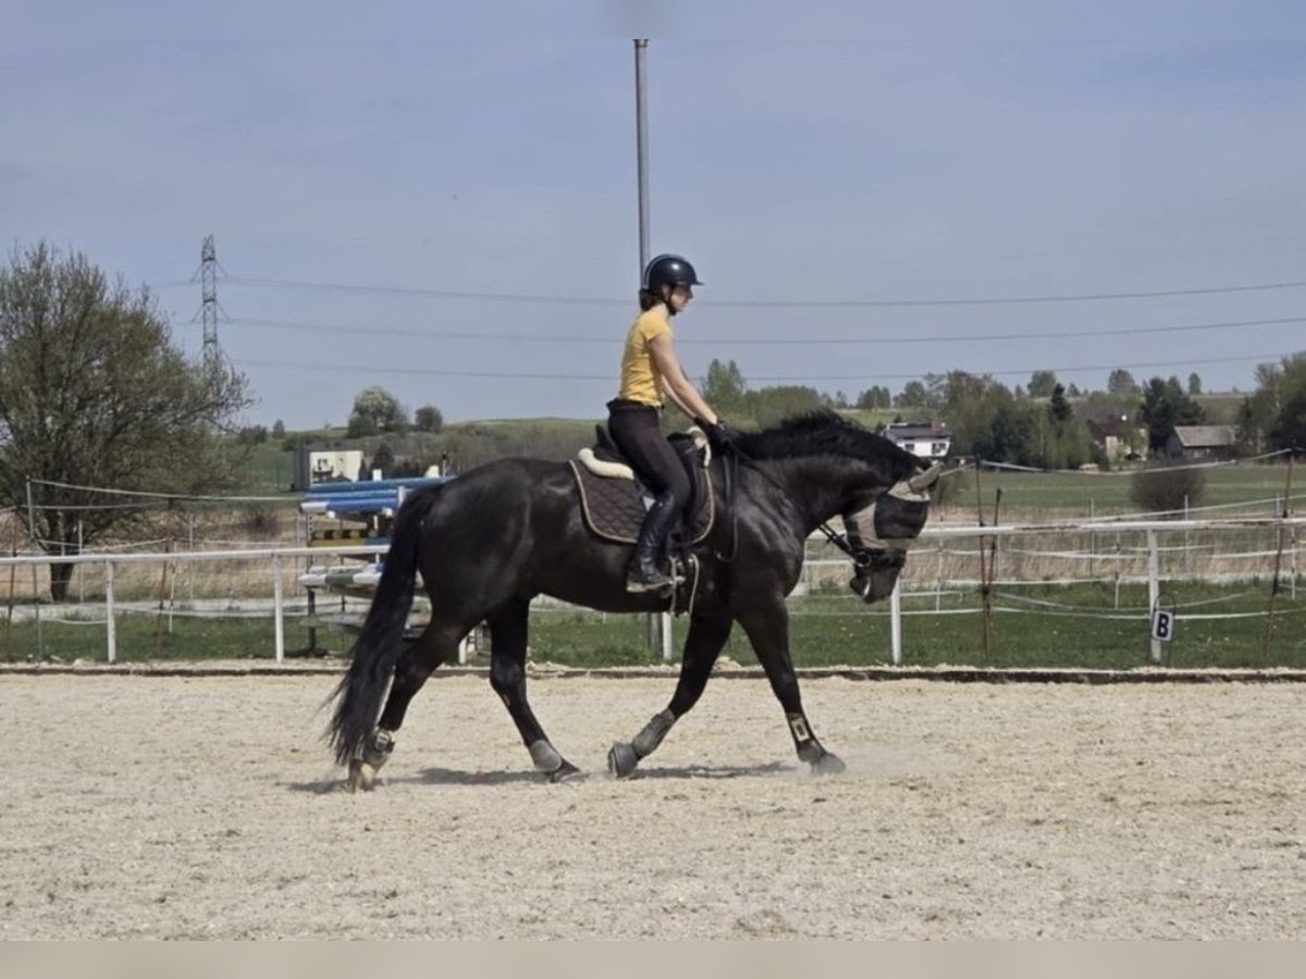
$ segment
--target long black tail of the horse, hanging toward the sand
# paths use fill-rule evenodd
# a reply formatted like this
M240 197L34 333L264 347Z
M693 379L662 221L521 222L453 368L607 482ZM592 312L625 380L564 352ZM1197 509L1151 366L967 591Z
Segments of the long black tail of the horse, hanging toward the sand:
M439 491L439 486L423 487L400 506L372 607L367 610L363 630L349 653L349 671L332 693L336 711L328 734L336 761L341 765L347 765L372 734L394 663L404 651L404 627L413 608L422 521Z

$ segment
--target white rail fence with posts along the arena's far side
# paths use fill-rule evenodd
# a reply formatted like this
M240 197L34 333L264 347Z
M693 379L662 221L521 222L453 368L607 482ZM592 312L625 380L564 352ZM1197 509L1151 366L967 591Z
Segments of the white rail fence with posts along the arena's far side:
M932 525L927 526L916 543L908 564L908 572L900 589L896 589L891 600L888 615L891 617L891 658L893 663L902 662L902 619L901 608L902 586L909 594L919 595L932 593L942 595L946 589L974 587L982 583L981 578L973 574L956 573L965 569L966 563L980 563L983 570L983 555L989 555L989 570L982 573L982 578L990 586L1008 582L1034 582L1034 583L1070 583L1076 581L1114 581L1117 589L1122 582L1143 581L1148 585L1149 607L1155 608L1161 593L1161 582L1174 578L1196 580L1247 580L1266 577L1271 574L1281 577L1296 595L1297 586L1297 531L1306 527L1306 518L1226 518L1226 520L1126 520L1126 521L1070 521L1055 523L1020 525L977 527L974 525ZM1212 543L1194 543L1183 540L1175 546L1162 546L1161 535L1165 538L1187 538L1200 535L1205 540L1232 539L1235 544L1247 538L1256 536L1262 540L1271 540L1269 547L1259 550L1221 550ZM1063 547L1060 550L1032 550L1020 548L1015 542L1021 539L1067 539L1081 538L1088 542L1087 547ZM1127 547L1122 539L1141 540L1144 543L1130 543ZM819 538L816 538L819 540ZM972 540L977 546L970 550L949 548L952 542ZM272 628L273 647L276 660L279 663L286 657L285 623L287 614L298 614L302 603L287 602L287 577L296 581L299 561L323 560L329 557L366 557L385 552L384 546L342 546L342 547L269 547L247 548L230 551L184 551L168 553L85 553L77 556L51 556L51 555L18 555L0 557L0 568L9 568L10 597L13 595L13 581L17 569L31 568L35 580L35 569L51 564L72 564L80 568L99 567L103 581L103 608L106 624L106 659L110 663L118 658L116 617L125 611L120 607L118 587L115 583L116 572L136 565L163 567L163 577L167 576L167 567L180 568L195 564L256 561L266 563L264 581L272 591ZM823 553L824 551L824 553ZM827 582L840 582L848 578L848 561L831 548L810 547L807 565L804 568L803 582L807 590L819 589ZM1037 576L1030 576L1028 564L1030 557L1040 563ZM948 567L948 563L952 567ZM1178 561L1178 564L1175 564ZM1243 567L1239 570L1239 564ZM1000 565L1000 567L999 567ZM1059 567L1088 568L1088 574L1055 576L1049 570ZM1170 567L1174 565L1174 567ZM1251 570L1247 570L1250 567ZM1233 570L1218 570L1218 568L1232 568ZM998 574L998 572L1002 574ZM1224 578L1221 578L1224 576ZM291 585L291 587L295 587ZM35 581L33 585L35 591ZM259 590L259 589L256 589ZM261 590L266 595L266 590ZM1118 593L1117 593L1118 594ZM849 593L852 600L852 595ZM149 603L137 603L133 611L141 611L140 606L148 604L159 614L171 615L178 610L175 598L166 602L161 595ZM230 606L231 603L229 603ZM180 606L192 614L197 611L195 602ZM48 606L46 610L48 612ZM85 608L85 606L82 606ZM42 606L16 606L10 598L9 620L14 620L16 612L30 610L30 615L37 620L38 628L43 614ZM183 612L184 614L184 612ZM221 612L215 612L221 614ZM230 612L229 612L230 614ZM266 612L263 612L266 614ZM850 612L853 614L853 612ZM673 644L670 641L670 616L663 620L663 658L671 658ZM1153 641L1152 659L1160 662L1160 649Z

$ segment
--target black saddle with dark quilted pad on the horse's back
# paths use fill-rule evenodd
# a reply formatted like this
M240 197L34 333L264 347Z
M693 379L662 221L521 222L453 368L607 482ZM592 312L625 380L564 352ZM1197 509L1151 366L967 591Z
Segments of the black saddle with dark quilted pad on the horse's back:
M671 531L669 550L675 551L696 544L712 533L716 506L712 480L708 479L710 453L699 436L675 433L670 443L690 474L690 503L680 516L680 523ZM653 503L653 495L640 483L635 470L616 448L607 426L594 426L594 445L581 449L577 458L568 461L580 491L580 509L585 526L601 540L614 544L633 544L644 525L644 514Z

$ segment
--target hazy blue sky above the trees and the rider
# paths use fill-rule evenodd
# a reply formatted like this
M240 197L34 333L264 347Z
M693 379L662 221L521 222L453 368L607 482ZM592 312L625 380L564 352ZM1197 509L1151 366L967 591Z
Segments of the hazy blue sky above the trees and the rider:
M345 39L226 8L196 39L125 9L51 39L64 14L33 8L0 40L7 247L154 285L199 351L185 281L213 234L252 422L341 423L368 384L449 419L602 414L637 265L629 40L448 39L471 21L387 39L404 22L381 14ZM1306 281L1306 42L1028 23L650 42L653 248L707 282L678 322L692 376L734 359L754 385L855 396L953 368L1104 386L1119 365L1249 389L1258 359L1306 349L1302 287L939 302ZM1153 332L1098 333L1126 328Z

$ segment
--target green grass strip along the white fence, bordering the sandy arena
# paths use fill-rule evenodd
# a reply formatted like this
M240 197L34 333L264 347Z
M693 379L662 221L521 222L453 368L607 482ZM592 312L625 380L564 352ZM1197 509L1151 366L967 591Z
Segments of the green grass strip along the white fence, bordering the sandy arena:
M1276 599L1276 629L1269 655L1262 655L1268 585L1211 586L1169 583L1164 604L1177 612L1175 640L1165 649L1174 667L1292 667L1306 668L1306 587L1293 599ZM1148 662L1147 589L1121 589L1119 607L1109 585L1057 587L1032 585L999 589L994 597L991 640L983 644L982 603L976 593L943 595L946 615L936 615L932 594L908 595L902 610L904 664L970 664L989 667L1134 668ZM1238 619L1196 619L1194 615L1245 614ZM1121 620L1113 616L1127 616ZM686 619L674 624L675 647L684 641ZM639 615L538 610L532 616L534 662L573 667L646 666L661 662L645 642ZM13 624L0 644L8 662L104 662L104 625L46 621L43 655L38 654L31 623ZM307 645L302 619L286 620L286 647ZM341 633L317 629L317 644L336 653L349 645ZM889 663L887 606L865 606L855 598L814 595L790 603L790 649L799 667L879 666ZM735 629L725 654L738 663L756 660L742 630ZM124 615L118 621L119 662L196 659L263 659L273 657L270 617L166 617ZM473 662L485 663L478 658Z

